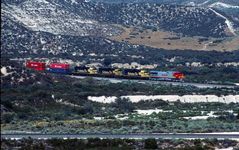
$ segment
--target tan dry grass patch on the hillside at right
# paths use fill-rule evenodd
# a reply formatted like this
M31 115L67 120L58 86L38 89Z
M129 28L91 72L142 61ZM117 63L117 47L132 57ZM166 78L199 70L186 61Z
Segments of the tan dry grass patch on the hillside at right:
M115 41L128 41L132 44L146 45L155 48L191 49L191 50L217 50L233 51L239 50L239 37L228 38L208 38L208 40L199 42L203 37L183 37L179 34L166 31L140 30L136 28L125 28L119 36L110 37ZM214 42L213 42L214 41ZM219 42L215 42L219 41Z

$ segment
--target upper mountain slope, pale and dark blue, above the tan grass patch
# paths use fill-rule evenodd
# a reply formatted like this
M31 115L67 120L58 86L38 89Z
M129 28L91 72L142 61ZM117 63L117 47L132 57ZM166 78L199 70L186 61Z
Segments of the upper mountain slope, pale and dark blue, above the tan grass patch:
M191 6L26 0L5 3L2 12L33 31L62 35L117 35L120 29L110 24L120 24L188 36L227 36L224 18L208 8Z

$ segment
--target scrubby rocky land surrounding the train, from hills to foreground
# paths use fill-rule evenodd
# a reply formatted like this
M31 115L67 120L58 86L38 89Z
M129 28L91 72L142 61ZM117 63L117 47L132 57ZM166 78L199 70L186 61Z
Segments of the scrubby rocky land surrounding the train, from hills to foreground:
M1 133L237 132L236 86L111 83L25 67L26 60L35 60L71 67L176 70L186 75L184 82L238 85L237 0L145 2L2 0ZM94 149L105 142L104 149L112 144L99 139L78 140L79 145L75 140L70 145L61 140L1 141L2 149L67 149L74 142ZM238 147L228 140L112 142L116 149L152 148L145 146L152 143L165 149Z

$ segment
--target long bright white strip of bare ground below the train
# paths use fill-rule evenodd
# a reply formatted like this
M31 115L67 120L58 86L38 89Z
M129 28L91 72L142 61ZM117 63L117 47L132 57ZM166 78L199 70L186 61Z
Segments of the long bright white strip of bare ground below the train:
M115 101L116 96L88 96L88 100L100 103L112 103ZM121 96L120 98L128 98L131 102L137 103L142 100L163 100L169 102L180 101L182 103L198 103L198 102L219 102L219 103L239 103L239 95L128 95Z

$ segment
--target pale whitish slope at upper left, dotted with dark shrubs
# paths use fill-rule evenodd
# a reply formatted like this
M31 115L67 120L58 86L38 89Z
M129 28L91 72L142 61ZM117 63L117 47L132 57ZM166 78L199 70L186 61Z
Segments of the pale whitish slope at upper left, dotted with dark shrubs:
M33 31L53 34L111 36L120 32L116 27L85 19L46 0L3 4L2 15Z

